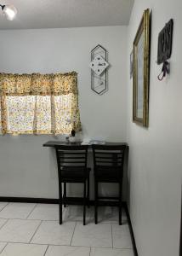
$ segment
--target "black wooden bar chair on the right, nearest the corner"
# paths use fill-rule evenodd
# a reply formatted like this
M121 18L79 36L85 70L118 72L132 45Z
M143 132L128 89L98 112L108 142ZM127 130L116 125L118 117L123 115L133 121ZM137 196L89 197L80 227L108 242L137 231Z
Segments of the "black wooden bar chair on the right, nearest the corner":
M122 224L122 177L126 145L93 145L94 154L94 219L98 223L98 206L103 201L111 200L119 207L119 224ZM118 183L119 195L105 197L98 195L99 183Z

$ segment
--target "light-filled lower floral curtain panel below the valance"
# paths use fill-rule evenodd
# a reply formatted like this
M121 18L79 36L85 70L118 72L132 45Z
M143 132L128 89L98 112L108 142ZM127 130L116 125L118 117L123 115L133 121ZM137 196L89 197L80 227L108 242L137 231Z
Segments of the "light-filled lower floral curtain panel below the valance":
M72 130L73 94L6 96L8 133L68 134ZM1 125L1 108L0 108ZM0 130L1 130L0 126Z

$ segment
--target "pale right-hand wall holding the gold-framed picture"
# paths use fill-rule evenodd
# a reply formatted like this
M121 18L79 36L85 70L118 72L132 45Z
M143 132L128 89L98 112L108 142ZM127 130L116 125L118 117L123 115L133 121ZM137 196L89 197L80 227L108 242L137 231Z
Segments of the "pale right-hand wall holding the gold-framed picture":
M182 166L181 0L135 0L128 26L128 56L144 9L152 9L149 128L132 122L132 80L128 77L128 199L139 256L179 256ZM171 74L157 80L158 32L174 21ZM129 64L128 64L129 67ZM128 70L129 73L129 70Z

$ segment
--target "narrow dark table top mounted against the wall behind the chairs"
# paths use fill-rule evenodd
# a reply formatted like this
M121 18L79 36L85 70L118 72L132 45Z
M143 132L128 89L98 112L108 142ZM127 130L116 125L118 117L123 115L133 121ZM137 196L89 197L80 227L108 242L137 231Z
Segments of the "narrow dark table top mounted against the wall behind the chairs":
M52 147L54 148L55 146L59 146L59 145L81 145L82 143L65 143L65 142L61 142L61 141L48 141L47 143L43 143L43 147ZM99 143L98 143L99 144ZM86 144L84 143L84 145L89 145L90 147L92 146L92 144ZM115 146L115 145L126 145L128 146L128 143L110 143L110 142L105 142L105 145L110 145L110 146Z

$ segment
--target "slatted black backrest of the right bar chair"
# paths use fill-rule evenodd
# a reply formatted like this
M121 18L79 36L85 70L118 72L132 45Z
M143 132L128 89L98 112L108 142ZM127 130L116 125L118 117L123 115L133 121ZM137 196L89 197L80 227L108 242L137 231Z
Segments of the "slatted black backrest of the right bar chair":
M126 145L92 145L94 154L94 172L100 170L118 171L122 177Z

